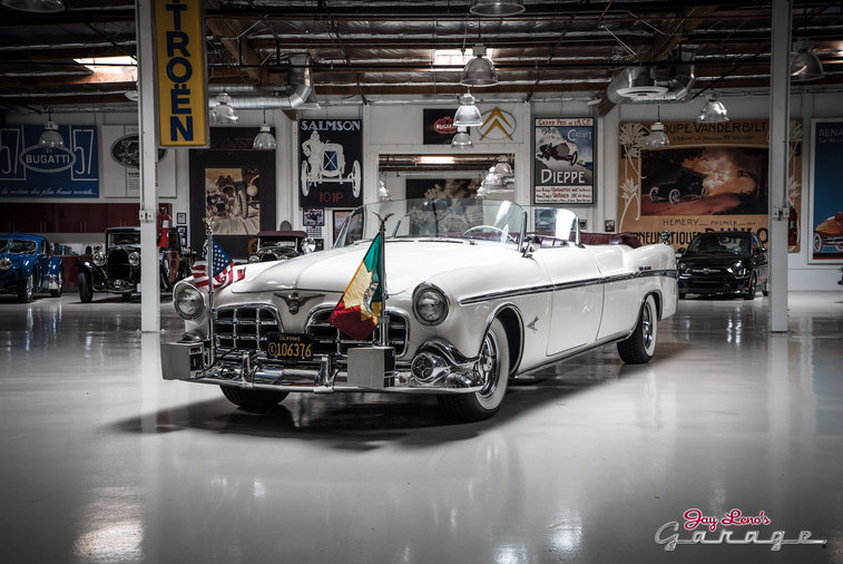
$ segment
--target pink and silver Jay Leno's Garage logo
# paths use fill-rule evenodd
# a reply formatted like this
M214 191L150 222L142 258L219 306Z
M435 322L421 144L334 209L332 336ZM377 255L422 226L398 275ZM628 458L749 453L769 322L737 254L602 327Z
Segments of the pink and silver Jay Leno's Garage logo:
M762 534L761 527L773 524L764 512L757 515L744 515L741 509L732 509L723 517L704 515L702 510L693 508L682 514L685 523L670 521L656 531L656 543L665 545L665 551L672 552L680 544L759 544L768 545L771 551L777 552L785 544L822 545L825 547L826 539L811 539L811 531L800 531L796 538L785 538L784 531L773 531ZM717 535L717 527L721 527ZM729 527L729 528L726 528ZM731 527L741 527L732 529ZM692 532L689 538L683 538L684 532ZM739 535L743 534L743 538ZM734 535L734 537L733 537Z

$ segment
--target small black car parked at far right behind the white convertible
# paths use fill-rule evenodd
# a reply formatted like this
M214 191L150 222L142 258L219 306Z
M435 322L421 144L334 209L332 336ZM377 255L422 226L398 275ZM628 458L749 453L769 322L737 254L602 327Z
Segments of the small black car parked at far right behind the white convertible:
M683 252L683 250L679 250ZM745 231L700 233L677 264L679 298L685 294L743 295L755 299L758 288L767 295L767 250Z

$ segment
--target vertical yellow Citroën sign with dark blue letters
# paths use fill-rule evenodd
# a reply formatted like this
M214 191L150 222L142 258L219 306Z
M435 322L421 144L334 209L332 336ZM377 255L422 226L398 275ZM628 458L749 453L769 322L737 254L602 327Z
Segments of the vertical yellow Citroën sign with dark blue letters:
M206 147L205 11L202 0L156 0L158 143Z

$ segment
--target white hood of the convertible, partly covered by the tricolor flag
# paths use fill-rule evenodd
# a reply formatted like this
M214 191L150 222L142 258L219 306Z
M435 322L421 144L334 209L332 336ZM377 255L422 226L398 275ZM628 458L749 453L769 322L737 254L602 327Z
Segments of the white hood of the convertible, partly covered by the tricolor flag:
M267 292L295 288L343 292L369 251L369 244L332 249L296 256L288 261L246 266L244 280L232 285L232 292ZM516 251L493 244L471 245L450 241L395 241L386 242L384 270L386 288L396 294L412 290L419 283L430 281L442 272L458 269L489 268L498 260ZM249 271L253 271L254 274Z

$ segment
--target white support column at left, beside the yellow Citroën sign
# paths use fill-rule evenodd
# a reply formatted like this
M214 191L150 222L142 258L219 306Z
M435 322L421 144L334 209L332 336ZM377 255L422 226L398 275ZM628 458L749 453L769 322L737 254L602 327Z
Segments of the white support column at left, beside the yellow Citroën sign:
M140 330L160 329L158 273L158 136L155 115L154 3L138 0L135 33L138 55L138 130L140 137ZM196 228L194 226L194 228Z

